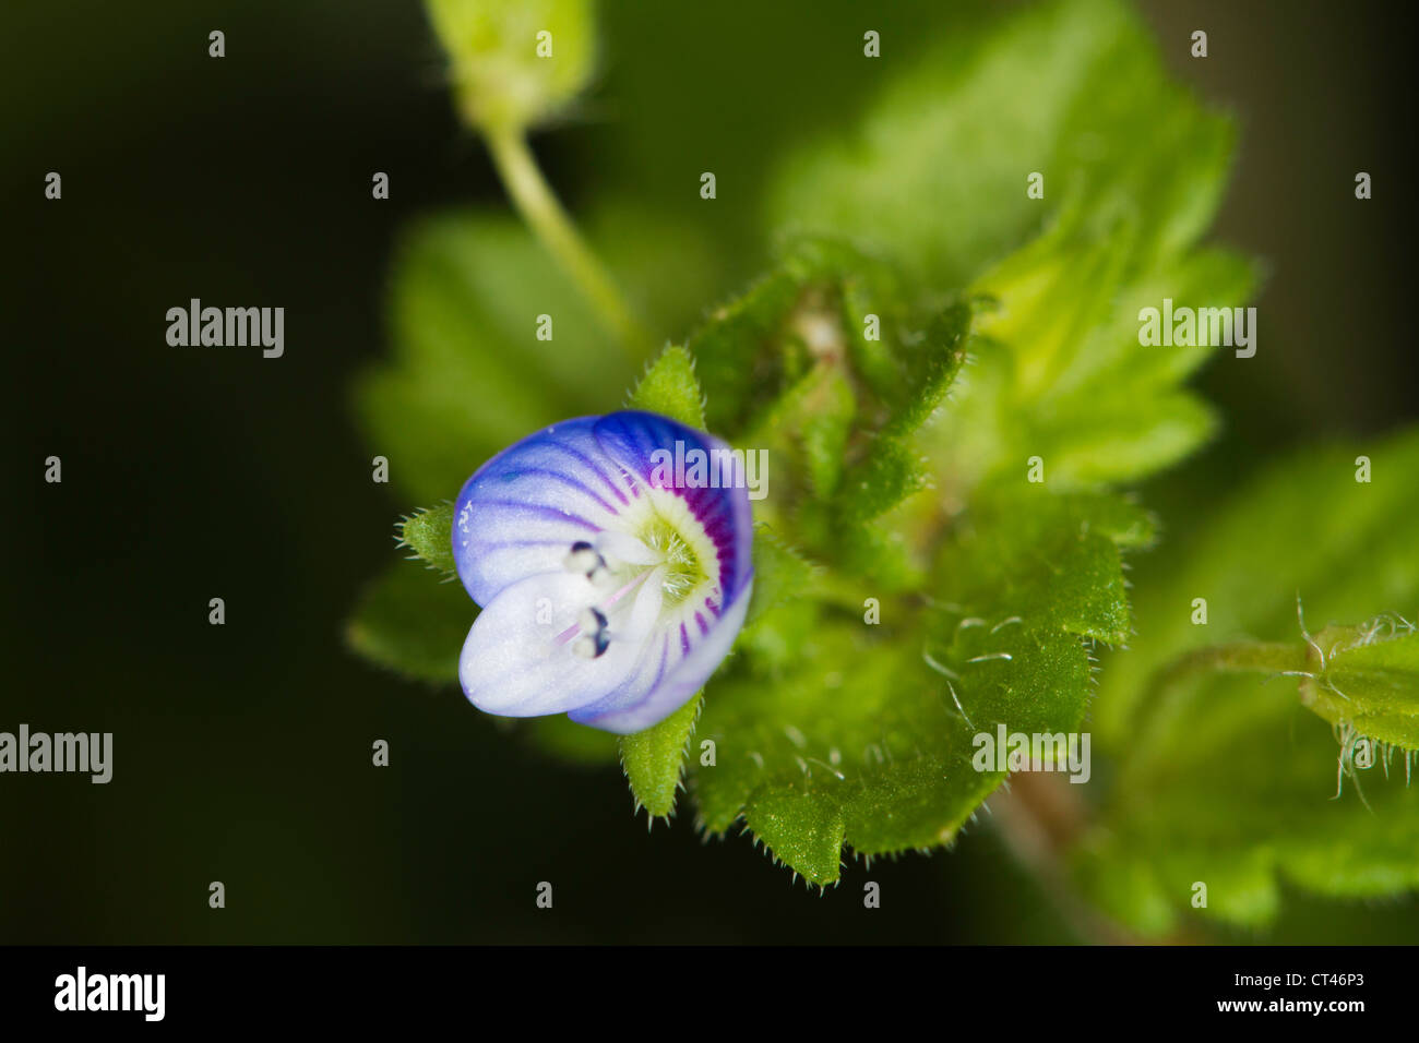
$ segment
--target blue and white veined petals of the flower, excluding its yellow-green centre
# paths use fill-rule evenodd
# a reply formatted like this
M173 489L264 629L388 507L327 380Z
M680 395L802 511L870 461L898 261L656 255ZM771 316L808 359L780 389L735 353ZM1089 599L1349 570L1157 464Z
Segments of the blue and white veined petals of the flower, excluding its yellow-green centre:
M732 461L715 485L667 475L657 450L698 450ZM539 599L556 606L556 633L587 602L585 576L566 572L568 551L597 534L626 532L629 515L663 512L698 525L717 569L704 589L667 603L648 633L610 641L590 663L546 644L534 624ZM454 514L454 559L485 606L468 634L460 678L468 698L494 714L569 712L572 719L630 734L678 710L728 654L752 589L752 511L742 463L725 443L667 417L620 412L555 424L511 446L473 475ZM707 566L710 562L705 562ZM644 593L644 592L643 592ZM656 605L660 605L658 595ZM637 605L640 599L637 597Z

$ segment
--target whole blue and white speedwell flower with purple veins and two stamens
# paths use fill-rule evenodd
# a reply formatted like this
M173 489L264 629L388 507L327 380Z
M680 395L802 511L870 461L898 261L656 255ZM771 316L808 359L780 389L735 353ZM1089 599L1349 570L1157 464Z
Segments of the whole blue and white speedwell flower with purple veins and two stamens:
M695 451L711 467L687 478L667 465ZM458 578L482 606L458 661L464 692L504 717L648 728L734 644L751 545L744 458L718 438L639 412L524 438L454 507Z

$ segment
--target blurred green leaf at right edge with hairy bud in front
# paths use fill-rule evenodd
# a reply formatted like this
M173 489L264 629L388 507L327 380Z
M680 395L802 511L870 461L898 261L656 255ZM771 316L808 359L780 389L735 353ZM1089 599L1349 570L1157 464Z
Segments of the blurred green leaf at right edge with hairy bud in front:
M1185 912L1269 924L1283 880L1351 898L1419 887L1416 474L1419 433L1305 451L1141 586L1138 640L1105 664L1094 710L1117 786L1078 857L1090 894L1137 929Z

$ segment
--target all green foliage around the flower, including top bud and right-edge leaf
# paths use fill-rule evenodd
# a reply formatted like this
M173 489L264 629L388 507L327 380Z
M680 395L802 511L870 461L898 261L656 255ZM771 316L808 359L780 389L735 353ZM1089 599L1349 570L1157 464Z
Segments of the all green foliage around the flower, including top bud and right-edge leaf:
M583 6L543 7L526 9L545 23L528 30L525 6L431 0L474 121L521 126L585 84ZM539 28L555 62L529 64ZM1171 549L1174 575L1137 616L1130 605L1124 558L1156 525L1117 487L1218 426L1183 382L1219 349L1139 345L1139 309L1242 305L1260 277L1199 245L1230 121L1168 79L1114 0L992 16L920 51L893 64L856 131L782 163L766 270L624 399L768 451L735 654L639 735L507 727L568 759L619 748L650 816L674 810L684 780L702 829L742 824L823 885L844 846L954 841L1002 782L972 765L978 732L1093 719L1115 785L1074 866L1134 928L1175 928L1199 880L1200 915L1236 924L1269 922L1283 876L1328 895L1419 885L1419 788L1406 785L1419 440L1321 450L1264 475ZM1030 172L1043 199L1027 194ZM602 207L592 240L657 333L678 338L687 304L736 261L700 255L668 211ZM572 281L502 216L423 223L400 250L392 314L393 360L366 375L358 407L414 502L450 500L538 427L607 412L633 375ZM535 336L539 315L555 339ZM1354 481L1362 453L1371 484ZM1034 457L1043 482L1027 480ZM450 521L447 505L413 515L404 545L450 572ZM1297 592L1308 617L1337 622L1305 631ZM1208 626L1192 623L1195 597ZM350 643L451 681L474 614L455 583L396 563ZM1091 705L1095 649L1124 643ZM714 756L687 768L691 739Z

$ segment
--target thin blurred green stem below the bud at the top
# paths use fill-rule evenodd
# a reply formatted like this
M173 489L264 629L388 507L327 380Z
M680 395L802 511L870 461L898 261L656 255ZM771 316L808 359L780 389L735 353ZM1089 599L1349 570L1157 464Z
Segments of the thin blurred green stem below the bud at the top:
M592 302L631 362L639 363L643 349L650 345L650 335L542 177L524 132L512 126L485 126L484 136L498 176L522 219Z

